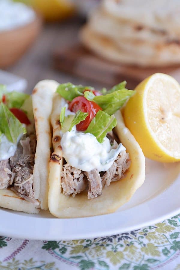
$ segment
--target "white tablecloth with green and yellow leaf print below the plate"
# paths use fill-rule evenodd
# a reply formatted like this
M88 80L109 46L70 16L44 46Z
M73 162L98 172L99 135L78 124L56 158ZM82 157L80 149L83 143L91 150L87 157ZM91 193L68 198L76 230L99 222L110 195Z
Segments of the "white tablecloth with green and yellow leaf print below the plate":
M0 237L0 269L180 270L180 215L133 232L95 239Z

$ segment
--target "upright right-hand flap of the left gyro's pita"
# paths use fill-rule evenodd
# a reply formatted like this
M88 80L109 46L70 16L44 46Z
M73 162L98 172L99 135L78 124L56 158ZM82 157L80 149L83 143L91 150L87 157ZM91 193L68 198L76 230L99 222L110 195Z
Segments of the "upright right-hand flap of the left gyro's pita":
M32 92L33 112L37 137L34 166L34 195L41 202L41 209L48 209L48 175L51 142L50 114L52 97L57 83L54 80L42 80Z

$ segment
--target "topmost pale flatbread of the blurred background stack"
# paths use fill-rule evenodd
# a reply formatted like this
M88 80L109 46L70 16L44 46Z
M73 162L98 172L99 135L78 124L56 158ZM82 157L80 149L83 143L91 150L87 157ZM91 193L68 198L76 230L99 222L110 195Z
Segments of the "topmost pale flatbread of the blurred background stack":
M125 22L180 34L179 0L104 0L102 9Z

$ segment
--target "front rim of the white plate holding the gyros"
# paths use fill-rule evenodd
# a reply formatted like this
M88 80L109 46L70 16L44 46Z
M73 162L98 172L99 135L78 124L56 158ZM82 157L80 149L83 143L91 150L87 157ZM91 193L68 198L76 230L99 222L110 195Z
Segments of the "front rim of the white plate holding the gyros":
M8 212L6 210L1 210L0 208L0 235L12 238L28 238L30 240L65 241L72 239L98 238L130 232L146 226L154 225L179 214L180 203L177 196L179 188L180 174L167 189L149 201L145 201L120 212L95 217L66 219L46 217L37 218L34 216L18 215L17 212ZM174 196L175 194L176 196ZM171 200L169 200L169 197ZM158 207L154 207L156 204L158 204ZM135 215L134 212L136 213ZM151 212L151 216L148 216L149 212ZM158 214L159 212L161 212L161 214ZM14 217L13 227L11 227L9 224L9 218L13 221ZM131 217L134 219L131 220ZM112 224L111 221L114 221L114 224ZM128 222L129 224L131 222L131 225L127 226ZM34 227L36 228L34 231L35 233L32 232L32 223L34 223ZM121 223L121 226L119 226L119 223ZM87 226L87 224L89 225ZM26 226L26 231L23 226ZM83 226L86 226L86 230L81 231L80 229L82 229ZM76 228L76 231L72 232L71 229L74 227ZM55 233L57 230L61 232L58 235Z

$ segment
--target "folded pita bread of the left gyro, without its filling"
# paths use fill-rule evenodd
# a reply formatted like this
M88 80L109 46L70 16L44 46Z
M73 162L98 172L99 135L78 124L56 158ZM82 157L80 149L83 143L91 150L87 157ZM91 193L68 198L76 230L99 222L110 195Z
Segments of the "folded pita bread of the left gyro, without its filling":
M41 209L48 209L48 174L51 142L50 114L52 110L52 96L58 83L44 80L39 82L32 94L32 105L35 119L37 147L33 170L33 191L37 202L20 198L10 188L0 190L0 207L38 213Z

